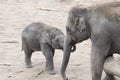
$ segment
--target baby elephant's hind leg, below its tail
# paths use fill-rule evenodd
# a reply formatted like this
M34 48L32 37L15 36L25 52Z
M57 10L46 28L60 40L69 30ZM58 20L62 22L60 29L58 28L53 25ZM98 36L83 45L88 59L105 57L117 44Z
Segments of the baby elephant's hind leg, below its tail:
M31 63L31 56L32 56L32 50L27 46L25 41L22 41L23 45L23 50L25 53L25 63L27 68L32 68L32 63Z

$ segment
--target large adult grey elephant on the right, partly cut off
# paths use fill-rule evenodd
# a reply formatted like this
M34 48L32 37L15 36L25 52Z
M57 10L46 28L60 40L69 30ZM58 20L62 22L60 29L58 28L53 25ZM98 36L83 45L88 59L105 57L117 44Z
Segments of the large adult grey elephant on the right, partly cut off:
M88 8L72 8L69 12L66 32L61 67L63 79L68 80L65 71L72 45L90 38L92 80L101 80L106 58L114 53L120 54L120 2ZM106 73L104 80L114 80L114 77Z

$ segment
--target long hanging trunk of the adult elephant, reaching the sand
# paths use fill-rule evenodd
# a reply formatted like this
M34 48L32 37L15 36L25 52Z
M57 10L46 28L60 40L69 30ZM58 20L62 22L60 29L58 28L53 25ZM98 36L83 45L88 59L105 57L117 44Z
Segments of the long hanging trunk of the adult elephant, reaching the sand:
M64 80L68 80L65 71L69 62L69 58L70 58L70 53L72 51L72 40L69 36L67 36L66 40L65 40L65 44L64 44L64 55L63 55L63 62L62 62L62 67L61 67L61 76ZM73 46L74 49L75 45ZM73 50L74 51L74 50Z

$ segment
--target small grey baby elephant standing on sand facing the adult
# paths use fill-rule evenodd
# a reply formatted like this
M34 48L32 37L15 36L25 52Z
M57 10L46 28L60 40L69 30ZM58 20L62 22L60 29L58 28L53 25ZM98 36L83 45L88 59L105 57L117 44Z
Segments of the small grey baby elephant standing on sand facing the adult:
M64 34L59 29L37 22L28 25L22 32L22 48L25 52L25 63L31 68L31 55L34 51L42 51L46 58L46 71L54 72L54 51L63 49ZM73 47L74 51L75 47Z

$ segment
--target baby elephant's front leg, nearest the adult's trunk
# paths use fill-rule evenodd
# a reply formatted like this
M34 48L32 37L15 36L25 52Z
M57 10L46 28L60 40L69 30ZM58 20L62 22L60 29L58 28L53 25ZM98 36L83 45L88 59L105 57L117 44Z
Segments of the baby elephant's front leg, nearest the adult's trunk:
M54 62L53 62L53 56L54 56L54 49L46 44L42 43L41 44L41 51L43 52L45 58L46 58L46 71L50 75L54 75Z

